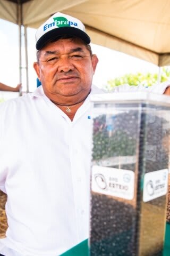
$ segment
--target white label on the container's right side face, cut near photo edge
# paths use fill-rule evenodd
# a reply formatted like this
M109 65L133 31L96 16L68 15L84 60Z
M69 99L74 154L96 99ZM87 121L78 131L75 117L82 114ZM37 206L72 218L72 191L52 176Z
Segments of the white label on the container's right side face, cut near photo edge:
M143 202L166 195L168 189L168 169L148 172L143 178Z

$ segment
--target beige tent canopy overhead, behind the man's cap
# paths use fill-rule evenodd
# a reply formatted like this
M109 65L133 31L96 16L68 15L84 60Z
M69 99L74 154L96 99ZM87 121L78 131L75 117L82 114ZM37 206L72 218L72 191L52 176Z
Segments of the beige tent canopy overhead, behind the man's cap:
M82 20L92 43L170 64L170 0L0 0L0 18L32 28L57 11Z

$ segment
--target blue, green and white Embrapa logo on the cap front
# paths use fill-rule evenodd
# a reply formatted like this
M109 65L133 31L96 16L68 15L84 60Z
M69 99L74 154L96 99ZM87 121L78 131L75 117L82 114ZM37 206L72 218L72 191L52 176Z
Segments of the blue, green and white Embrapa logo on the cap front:
M54 27L54 26L57 26L58 28L61 28L61 27L71 27L71 25L78 26L78 23L69 21L65 17L56 17L56 18L53 18L53 20L54 20L54 22L47 23L44 26L44 31L46 29Z

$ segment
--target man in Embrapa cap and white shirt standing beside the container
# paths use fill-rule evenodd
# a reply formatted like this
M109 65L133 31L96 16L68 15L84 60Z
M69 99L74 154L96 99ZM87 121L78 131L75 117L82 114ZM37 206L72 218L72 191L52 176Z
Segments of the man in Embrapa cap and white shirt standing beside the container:
M36 40L42 86L0 106L5 256L57 256L89 235L90 95L101 92L91 86L98 59L82 22L63 13L40 26Z

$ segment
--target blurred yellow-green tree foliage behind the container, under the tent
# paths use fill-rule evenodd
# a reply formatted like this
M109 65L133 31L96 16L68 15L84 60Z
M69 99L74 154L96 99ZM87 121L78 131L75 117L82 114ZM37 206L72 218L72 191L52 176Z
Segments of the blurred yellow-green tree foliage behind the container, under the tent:
M170 69L168 67L161 68L161 77L160 82L165 82L170 78ZM152 84L157 83L158 74L146 73L142 74L140 72L136 74L125 74L122 77L116 77L107 82L106 89L108 91L112 90L113 87L119 86L121 84L129 84L129 85L139 85L143 86L151 86Z

